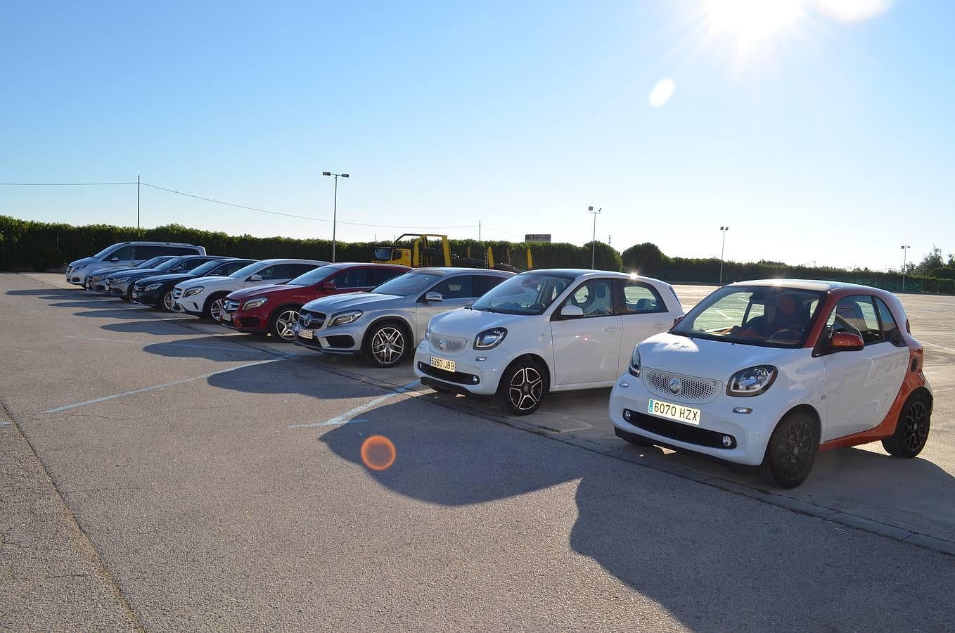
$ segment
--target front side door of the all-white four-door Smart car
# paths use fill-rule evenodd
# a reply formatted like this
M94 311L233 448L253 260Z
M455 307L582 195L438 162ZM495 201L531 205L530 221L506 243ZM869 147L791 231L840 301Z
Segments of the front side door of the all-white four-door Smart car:
M612 279L589 279L557 306L550 322L554 339L553 385L586 385L620 375L623 321L613 307ZM562 317L563 306L579 306L583 316Z

